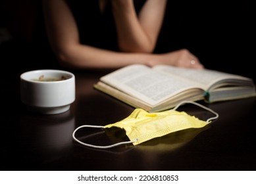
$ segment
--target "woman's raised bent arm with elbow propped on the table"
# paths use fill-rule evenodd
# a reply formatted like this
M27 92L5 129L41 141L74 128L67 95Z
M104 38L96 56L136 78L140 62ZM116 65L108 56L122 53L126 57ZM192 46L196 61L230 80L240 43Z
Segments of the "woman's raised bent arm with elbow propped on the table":
M112 0L121 51L152 53L165 16L166 0L147 0L137 16L133 0Z

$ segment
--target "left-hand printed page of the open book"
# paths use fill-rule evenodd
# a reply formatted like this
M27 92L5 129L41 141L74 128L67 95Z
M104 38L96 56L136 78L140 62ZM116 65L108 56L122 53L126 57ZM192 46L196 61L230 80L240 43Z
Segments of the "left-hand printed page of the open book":
M126 66L101 78L101 81L125 93L155 105L181 91L197 88L195 84L134 64Z

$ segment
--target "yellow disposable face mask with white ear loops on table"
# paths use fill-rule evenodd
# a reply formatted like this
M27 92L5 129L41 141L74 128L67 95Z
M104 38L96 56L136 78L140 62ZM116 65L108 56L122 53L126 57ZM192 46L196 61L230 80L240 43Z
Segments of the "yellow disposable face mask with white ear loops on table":
M192 103L197 106L200 106L201 108L205 108L206 110L209 110L216 116L213 118L209 118L207 121L203 121L203 120L199 120L198 118L195 118L195 116L190 116L186 112L178 112L176 109L184 103ZM211 123L211 120L214 120L216 118L218 118L218 114L213 110L211 110L210 108L202 106L201 104L198 104L198 103L184 101L178 104L172 110L166 110L163 112L149 113L141 108L136 108L132 112L132 114L130 114L130 116L128 116L124 120L121 120L120 122L116 122L115 124L109 124L107 126L90 126L90 125L80 126L74 130L72 136L75 141L77 141L78 143L84 146L98 148L98 149L108 149L111 147L116 147L118 145L124 145L128 143L132 143L133 145L138 145L145 141L149 141L150 139L153 139L155 137L161 137L161 136L167 135L168 133L180 131L182 129L204 127L207 124ZM115 145L109 145L109 146L96 146L96 145L86 144L86 143L83 143L82 141L79 141L75 137L76 131L82 127L96 127L96 128L103 128L103 129L110 128L110 127L120 127L121 129L124 129L126 131L126 135L130 139L130 141L116 143Z

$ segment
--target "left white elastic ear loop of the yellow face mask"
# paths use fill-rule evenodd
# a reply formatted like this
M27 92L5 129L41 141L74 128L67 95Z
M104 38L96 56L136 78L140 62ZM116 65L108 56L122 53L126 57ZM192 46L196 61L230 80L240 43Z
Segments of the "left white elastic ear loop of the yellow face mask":
M124 141L124 142L120 142L120 143L116 143L114 145L109 145L109 146L97 146L97 145L90 145L90 144L87 144L87 143L83 143L82 141L79 141L76 136L75 136L75 133L76 131L78 131L78 129L81 129L83 127L95 127L95 128L105 128L104 126L90 126L90 125L84 125L84 126L80 126L80 127L77 127L73 133L72 133L72 137L74 139L74 141L80 143L81 145L84 145L86 147L91 147L91 148L95 148L95 149L109 149L109 148L113 148L113 147L117 147L118 145L126 145L126 144L130 144L130 143L134 143L136 141L138 141L137 139L134 140L134 141Z

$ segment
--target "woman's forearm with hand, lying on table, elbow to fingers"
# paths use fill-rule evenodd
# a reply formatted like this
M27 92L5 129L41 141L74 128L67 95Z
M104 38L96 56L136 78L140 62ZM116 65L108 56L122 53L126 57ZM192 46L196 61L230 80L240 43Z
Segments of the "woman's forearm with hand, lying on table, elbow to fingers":
M199 59L186 49L170 53L151 54L119 53L88 45L70 46L69 49L57 53L60 64L70 68L120 68L129 64L145 64L147 66L166 64L185 68L203 68Z

